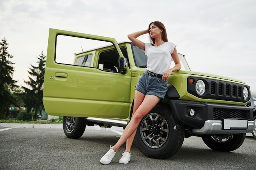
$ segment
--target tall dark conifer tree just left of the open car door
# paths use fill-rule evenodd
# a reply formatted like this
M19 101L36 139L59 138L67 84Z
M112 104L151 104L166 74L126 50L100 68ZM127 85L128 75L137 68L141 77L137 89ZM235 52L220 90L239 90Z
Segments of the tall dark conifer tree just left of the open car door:
M42 112L43 110L43 81L45 74L45 55L43 51L39 55L38 58L38 66L31 65L29 68L29 81L24 81L25 84L30 86L30 88L26 88L22 86L25 90L23 95L23 101L25 103L27 112L35 112L34 120L37 118L38 111Z

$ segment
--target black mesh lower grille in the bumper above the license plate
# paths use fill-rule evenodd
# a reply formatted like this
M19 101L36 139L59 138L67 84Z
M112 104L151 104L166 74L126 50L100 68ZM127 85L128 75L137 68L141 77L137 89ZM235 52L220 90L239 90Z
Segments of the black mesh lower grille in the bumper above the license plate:
M246 110L213 108L213 119L222 118L247 119L247 114Z

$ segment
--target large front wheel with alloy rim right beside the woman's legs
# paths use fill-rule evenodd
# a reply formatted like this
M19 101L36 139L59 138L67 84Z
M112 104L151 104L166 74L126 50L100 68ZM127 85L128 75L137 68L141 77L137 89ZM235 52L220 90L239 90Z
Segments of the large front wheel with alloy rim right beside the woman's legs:
M171 115L171 109L157 105L139 123L135 143L147 157L165 159L180 149L184 133L184 127Z

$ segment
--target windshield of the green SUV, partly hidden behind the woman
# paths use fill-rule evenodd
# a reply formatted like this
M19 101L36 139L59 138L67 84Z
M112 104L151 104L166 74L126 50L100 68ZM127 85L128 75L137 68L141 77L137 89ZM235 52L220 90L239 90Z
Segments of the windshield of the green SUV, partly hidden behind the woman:
M147 60L148 57L145 55L144 50L140 49L139 47L132 45L132 53L135 61L135 65L137 67L146 68L147 67ZM185 60L184 55L178 53L180 58L181 70L190 71L190 68ZM175 65L173 59L171 60L171 67Z

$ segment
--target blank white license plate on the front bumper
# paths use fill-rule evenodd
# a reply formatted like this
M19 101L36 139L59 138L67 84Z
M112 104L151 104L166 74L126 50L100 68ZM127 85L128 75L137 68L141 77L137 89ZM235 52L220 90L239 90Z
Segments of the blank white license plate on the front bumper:
M247 129L247 119L223 119L222 128L223 130L243 130Z

